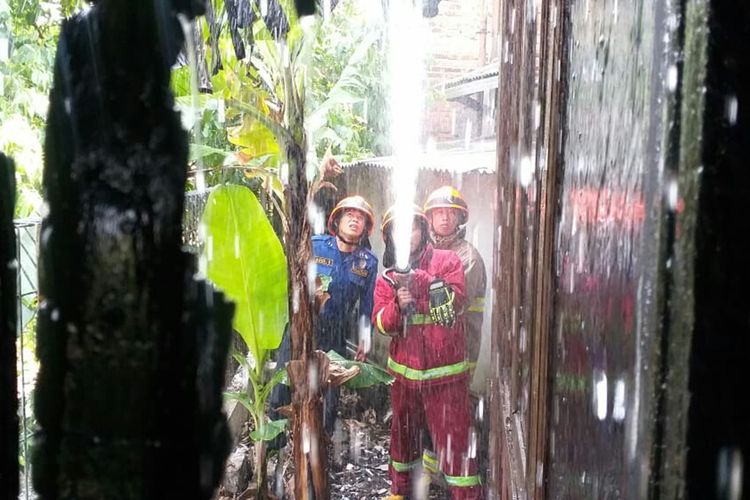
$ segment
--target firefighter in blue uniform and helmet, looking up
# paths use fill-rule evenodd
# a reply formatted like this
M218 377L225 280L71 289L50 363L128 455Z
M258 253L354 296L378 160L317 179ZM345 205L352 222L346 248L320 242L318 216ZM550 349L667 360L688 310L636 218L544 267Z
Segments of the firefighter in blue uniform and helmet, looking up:
M361 196L349 196L331 211L327 225L329 234L312 238L316 267L315 341L317 349L321 351L333 349L346 356L346 339L353 328L357 329L359 335L356 359L364 360L369 351L370 316L378 259L365 242L374 226L375 218L367 200ZM279 347L277 365L285 365L290 354L287 332ZM329 388L324 405L325 428L329 434L336 421L338 399L338 387ZM289 401L289 388L278 385L271 394L270 407L276 409ZM272 418L276 418L274 413L271 412ZM284 442L281 438L269 447L282 447Z

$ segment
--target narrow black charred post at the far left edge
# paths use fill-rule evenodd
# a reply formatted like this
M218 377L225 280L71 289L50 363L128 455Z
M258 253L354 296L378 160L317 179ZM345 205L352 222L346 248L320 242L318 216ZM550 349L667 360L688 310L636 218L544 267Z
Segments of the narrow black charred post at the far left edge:
M18 497L14 176L13 162L0 153L0 498Z

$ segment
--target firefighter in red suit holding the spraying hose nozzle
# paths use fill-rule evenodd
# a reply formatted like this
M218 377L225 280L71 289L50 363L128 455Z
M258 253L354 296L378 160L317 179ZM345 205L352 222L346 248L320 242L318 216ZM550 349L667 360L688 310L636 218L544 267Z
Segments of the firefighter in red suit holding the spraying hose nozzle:
M378 276L372 321L391 337L390 476L393 500L407 498L412 471L421 465L421 432L427 428L440 471L454 499L481 499L475 446L471 446L469 363L456 312L465 305L464 271L453 252L429 244L429 224L419 207L413 219L410 268ZM384 264L394 264L393 209L383 217Z

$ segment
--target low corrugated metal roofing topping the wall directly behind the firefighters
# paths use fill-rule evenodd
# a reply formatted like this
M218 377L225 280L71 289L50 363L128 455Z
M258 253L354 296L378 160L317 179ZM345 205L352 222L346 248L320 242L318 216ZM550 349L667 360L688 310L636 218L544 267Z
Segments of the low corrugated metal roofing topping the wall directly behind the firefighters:
M476 172L492 174L495 172L497 156L495 150L487 151L435 151L423 153L417 157L419 168L435 170L451 174L465 174ZM344 168L379 167L391 169L396 163L393 156L381 156L344 163Z

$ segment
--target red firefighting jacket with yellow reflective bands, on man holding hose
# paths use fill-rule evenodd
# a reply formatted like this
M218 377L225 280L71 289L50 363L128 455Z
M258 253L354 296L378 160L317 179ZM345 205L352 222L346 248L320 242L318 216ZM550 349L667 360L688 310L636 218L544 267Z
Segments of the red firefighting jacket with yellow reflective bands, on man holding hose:
M414 273L410 291L416 310L408 318L406 335L402 335L402 312L396 291L379 275L375 283L372 322L378 331L392 337L388 371L407 384L436 385L454 382L468 376L466 338L461 318L450 328L430 319L428 289L439 278L455 293L456 311L464 309L466 296L461 259L447 250L427 245Z

